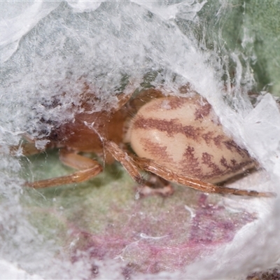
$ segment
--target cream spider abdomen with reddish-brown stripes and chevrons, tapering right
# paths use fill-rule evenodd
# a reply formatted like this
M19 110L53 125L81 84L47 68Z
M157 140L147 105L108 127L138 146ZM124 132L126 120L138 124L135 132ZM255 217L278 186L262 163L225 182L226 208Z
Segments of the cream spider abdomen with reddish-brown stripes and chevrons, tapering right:
M247 151L223 132L211 105L200 97L148 102L132 120L129 134L139 157L210 183L255 165Z

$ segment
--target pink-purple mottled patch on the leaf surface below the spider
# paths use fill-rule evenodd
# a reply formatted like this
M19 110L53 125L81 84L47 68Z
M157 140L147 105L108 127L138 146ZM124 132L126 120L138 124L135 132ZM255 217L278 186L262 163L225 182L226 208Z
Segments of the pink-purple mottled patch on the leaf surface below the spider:
M118 211L120 217L108 223L102 233L72 228L73 237L79 239L73 255L87 251L93 260L118 259L125 265L125 279L135 272L172 272L232 241L237 230L254 220L246 212L230 213L209 202L209 196L204 194L197 195L192 218L183 203L148 215L145 200L135 202L133 210L116 209L112 204L112 211ZM95 267L94 272L97 270Z

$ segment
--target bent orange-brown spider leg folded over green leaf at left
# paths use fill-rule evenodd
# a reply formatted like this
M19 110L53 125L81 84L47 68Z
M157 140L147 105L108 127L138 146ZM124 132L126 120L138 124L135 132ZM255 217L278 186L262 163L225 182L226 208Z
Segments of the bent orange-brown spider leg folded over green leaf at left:
M35 182L27 182L25 186L31 188L48 188L60 185L66 185L69 183L80 183L87 181L94 176L97 176L102 172L103 168L96 160L85 158L82 155L76 153L69 153L64 149L59 152L59 159L64 165L78 169L78 172L74 172L70 175L61 176L53 179L45 179Z

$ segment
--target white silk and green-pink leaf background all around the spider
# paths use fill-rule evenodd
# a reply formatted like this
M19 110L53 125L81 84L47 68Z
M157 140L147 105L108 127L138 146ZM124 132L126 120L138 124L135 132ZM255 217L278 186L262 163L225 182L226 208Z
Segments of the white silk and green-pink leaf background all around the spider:
M27 189L73 170L57 151L10 147L22 134L44 146L85 88L101 111L122 92L190 85L260 164L229 186L278 193L279 12L278 1L1 1L0 279L246 279L277 268L278 198L175 186L137 199L118 163L85 183Z

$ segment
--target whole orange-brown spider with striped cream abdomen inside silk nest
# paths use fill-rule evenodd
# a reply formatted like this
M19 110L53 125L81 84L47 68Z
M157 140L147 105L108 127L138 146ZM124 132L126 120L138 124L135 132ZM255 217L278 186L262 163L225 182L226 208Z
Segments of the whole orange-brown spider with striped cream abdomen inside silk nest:
M78 171L26 182L26 186L45 188L97 176L102 165L79 154L90 152L103 155L108 164L117 160L142 185L151 185L151 181L145 181L139 170L160 177L158 181L179 183L205 193L272 196L215 185L252 169L255 161L223 132L211 105L198 94L166 97L155 89L145 90L134 99L132 94L119 94L115 108L94 113L90 97L81 96L83 112L77 113L73 122L57 125L45 137L48 144L43 149L59 148L61 162ZM32 143L23 146L25 155L38 152L42 151Z

